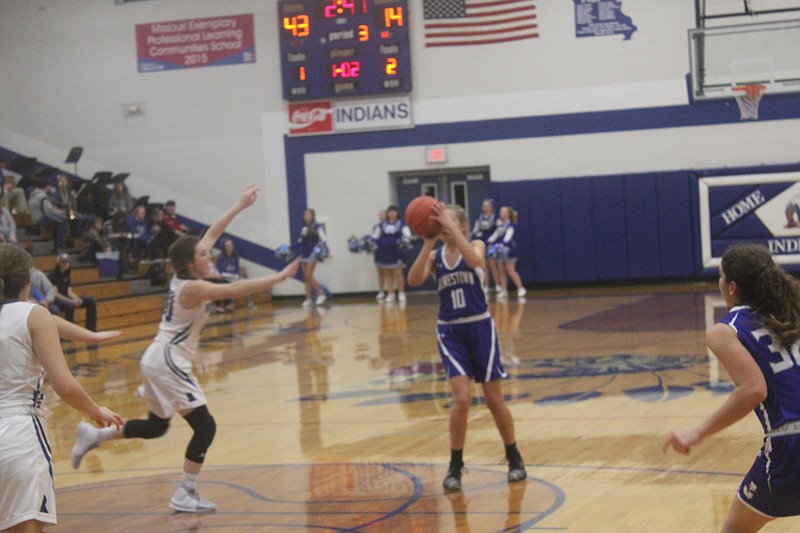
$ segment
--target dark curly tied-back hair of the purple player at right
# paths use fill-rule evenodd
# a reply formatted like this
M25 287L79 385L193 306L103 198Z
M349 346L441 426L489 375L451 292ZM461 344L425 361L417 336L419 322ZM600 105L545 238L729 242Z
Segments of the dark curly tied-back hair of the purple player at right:
M765 247L731 246L722 256L722 271L729 282L736 282L735 303L757 311L757 323L781 346L800 340L800 282L775 264Z

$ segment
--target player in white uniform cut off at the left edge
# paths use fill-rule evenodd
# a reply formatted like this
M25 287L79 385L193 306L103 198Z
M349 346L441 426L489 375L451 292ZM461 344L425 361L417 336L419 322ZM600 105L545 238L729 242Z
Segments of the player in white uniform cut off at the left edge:
M56 523L45 374L71 407L98 424L122 425L118 414L99 407L72 377L59 341L62 335L97 342L118 332L89 332L28 302L31 265L27 252L0 244L0 531L15 533Z

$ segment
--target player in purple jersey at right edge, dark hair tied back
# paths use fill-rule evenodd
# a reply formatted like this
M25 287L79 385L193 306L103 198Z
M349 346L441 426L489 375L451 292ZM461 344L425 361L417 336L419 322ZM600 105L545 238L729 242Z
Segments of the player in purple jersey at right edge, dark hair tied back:
M695 428L664 443L692 447L755 410L764 444L739 486L722 531L759 531L781 516L800 515L800 283L762 246L735 245L722 256L719 290L730 312L706 334L706 344L735 388Z

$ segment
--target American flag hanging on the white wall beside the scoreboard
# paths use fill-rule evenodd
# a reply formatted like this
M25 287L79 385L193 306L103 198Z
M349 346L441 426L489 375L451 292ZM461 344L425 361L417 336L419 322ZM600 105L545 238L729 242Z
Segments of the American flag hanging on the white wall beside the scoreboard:
M466 46L539 36L534 0L423 0L425 46Z

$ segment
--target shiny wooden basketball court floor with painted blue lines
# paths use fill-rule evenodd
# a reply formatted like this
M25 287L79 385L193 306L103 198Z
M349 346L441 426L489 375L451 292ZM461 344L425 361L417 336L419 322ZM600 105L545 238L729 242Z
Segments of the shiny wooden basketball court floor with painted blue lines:
M510 374L504 391L529 478L508 484L503 447L474 388L464 490L441 488L448 386L436 300L405 308L340 297L214 315L195 372L218 429L199 489L218 510L172 513L190 438L106 443L69 464L78 414L48 395L59 525L46 531L717 531L760 447L755 416L690 457L662 454L731 389L704 330L724 311L715 283L529 291L492 303ZM65 343L91 394L145 414L138 357L155 324L99 349ZM767 532L800 530L799 519Z

